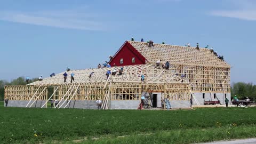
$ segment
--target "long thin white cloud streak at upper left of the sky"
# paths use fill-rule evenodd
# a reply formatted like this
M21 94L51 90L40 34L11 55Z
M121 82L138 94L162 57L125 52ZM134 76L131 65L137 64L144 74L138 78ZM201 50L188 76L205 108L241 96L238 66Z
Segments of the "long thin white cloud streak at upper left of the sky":
M61 15L60 15L61 13ZM79 16L83 14L63 12L0 12L0 20L9 22L26 23L38 26L51 26L57 28L80 29L80 30L103 30L101 23L90 20L91 16Z

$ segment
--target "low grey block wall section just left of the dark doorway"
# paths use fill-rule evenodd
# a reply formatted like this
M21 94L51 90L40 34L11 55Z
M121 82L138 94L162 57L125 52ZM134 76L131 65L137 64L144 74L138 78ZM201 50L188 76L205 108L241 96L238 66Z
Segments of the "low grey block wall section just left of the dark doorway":
M140 100L111 100L109 109L137 109Z

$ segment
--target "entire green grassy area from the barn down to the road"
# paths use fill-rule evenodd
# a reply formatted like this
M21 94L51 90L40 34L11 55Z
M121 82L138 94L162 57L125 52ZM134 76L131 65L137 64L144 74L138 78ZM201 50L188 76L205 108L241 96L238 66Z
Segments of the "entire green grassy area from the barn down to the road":
M0 104L0 143L196 143L256 137L256 108L84 110Z

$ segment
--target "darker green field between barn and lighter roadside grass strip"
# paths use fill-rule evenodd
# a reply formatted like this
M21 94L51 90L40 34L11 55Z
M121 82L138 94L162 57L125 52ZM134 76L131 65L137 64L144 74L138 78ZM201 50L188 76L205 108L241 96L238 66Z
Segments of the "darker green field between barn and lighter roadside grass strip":
M230 125L254 127L256 123L255 108L155 111L0 107L0 111L2 143L222 129Z

